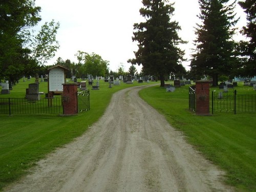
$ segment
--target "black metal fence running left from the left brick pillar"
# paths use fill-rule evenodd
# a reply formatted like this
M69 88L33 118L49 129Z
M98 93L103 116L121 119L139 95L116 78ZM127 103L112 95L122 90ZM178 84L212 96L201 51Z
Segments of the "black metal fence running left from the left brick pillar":
M50 104L51 102L51 104ZM62 114L61 98L0 98L1 114Z

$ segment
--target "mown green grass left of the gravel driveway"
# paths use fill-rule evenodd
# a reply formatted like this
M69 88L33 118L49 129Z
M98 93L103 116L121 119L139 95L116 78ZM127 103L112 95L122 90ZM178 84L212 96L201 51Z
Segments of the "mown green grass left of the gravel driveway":
M24 98L26 88L32 82L34 78L20 81L11 94L0 94L0 98ZM115 92L140 85L138 82L121 83L109 88L108 82L100 81L100 89L95 91L88 86L90 111L75 116L0 114L0 190L26 174L39 159L82 135L103 115ZM47 93L47 82L40 82L39 92Z

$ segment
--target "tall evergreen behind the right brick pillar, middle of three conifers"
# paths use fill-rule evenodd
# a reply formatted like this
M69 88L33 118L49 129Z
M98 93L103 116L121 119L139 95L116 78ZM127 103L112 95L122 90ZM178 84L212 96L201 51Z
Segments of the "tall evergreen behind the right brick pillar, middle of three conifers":
M235 32L233 10L236 1L228 5L229 0L199 0L201 13L198 16L202 24L197 24L195 54L191 59L191 71L197 75L212 77L212 85L218 86L218 77L228 75L236 63L234 58Z

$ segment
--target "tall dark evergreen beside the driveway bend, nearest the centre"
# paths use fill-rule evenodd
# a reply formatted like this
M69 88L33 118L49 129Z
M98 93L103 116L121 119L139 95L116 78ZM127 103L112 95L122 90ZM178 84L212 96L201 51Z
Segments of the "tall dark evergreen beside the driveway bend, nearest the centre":
M142 3L144 8L140 9L140 14L146 21L134 24L132 39L138 42L138 51L136 58L128 62L142 65L146 74L159 76L163 87L164 76L175 73L184 60L184 51L178 45L185 41L178 36L181 29L178 22L170 22L174 4L168 4L168 0L143 0Z

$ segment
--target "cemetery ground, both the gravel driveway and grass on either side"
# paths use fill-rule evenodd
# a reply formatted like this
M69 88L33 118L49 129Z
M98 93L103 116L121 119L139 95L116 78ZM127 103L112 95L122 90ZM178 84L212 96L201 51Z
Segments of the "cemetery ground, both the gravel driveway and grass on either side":
M109 89L102 82L100 90L91 92L91 110L77 116L0 115L1 187L27 172L31 175L7 189L161 191L173 187L174 190L233 191L225 185L229 184L239 191L256 190L255 113L195 116L188 111L188 87L177 88L174 93L166 93L159 86L140 91L140 96L163 114L173 129L154 109L148 110L149 106L136 96L139 90L122 91L118 97L113 95L134 85ZM13 92L19 86L24 85L13 87ZM24 97L27 87L24 88L17 95ZM115 96L112 104L105 111L112 96ZM118 108L114 103L119 104ZM153 121L149 118L143 122L146 124L140 124L146 111L150 111ZM118 118L120 114L127 119ZM100 116L100 121L95 123ZM117 126L112 126L113 123ZM159 129L151 127L155 123L160 123ZM100 142L95 142L97 139ZM70 144L63 146L67 143Z

